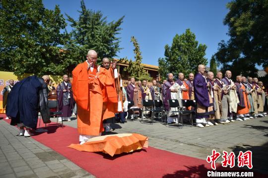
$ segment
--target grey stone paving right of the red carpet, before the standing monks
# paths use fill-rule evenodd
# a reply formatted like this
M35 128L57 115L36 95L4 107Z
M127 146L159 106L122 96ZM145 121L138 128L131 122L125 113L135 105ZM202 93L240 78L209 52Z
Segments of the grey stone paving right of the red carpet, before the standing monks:
M77 127L75 118L64 124ZM53 120L53 119L52 119ZM56 119L54 119L56 120ZM112 124L113 133L139 133L149 137L149 146L205 160L212 149L253 152L253 168L268 174L268 117L236 121L199 128L185 124L183 128L167 127L160 122L140 123L138 120ZM218 163L222 158L217 160Z

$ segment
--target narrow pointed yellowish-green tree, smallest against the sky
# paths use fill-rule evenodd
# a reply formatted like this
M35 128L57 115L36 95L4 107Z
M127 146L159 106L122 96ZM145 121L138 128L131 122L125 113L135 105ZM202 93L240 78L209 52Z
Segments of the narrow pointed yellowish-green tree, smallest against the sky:
M128 71L129 74L134 77L136 80L150 80L151 77L148 73L144 70L143 65L141 64L142 56L139 50L139 45L137 40L134 37L131 37L131 42L134 45L134 54L135 54L135 61L130 60L129 66L126 67L124 70Z

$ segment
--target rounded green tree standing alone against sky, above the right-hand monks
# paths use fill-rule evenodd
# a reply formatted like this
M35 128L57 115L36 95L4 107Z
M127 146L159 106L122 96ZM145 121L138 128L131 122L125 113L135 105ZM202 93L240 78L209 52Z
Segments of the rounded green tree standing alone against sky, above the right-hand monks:
M160 75L166 76L170 72L183 72L188 75L195 72L199 64L207 64L207 59L204 58L205 50L206 45L198 44L196 35L190 29L186 29L182 35L176 34L172 45L165 46L165 58L158 59Z

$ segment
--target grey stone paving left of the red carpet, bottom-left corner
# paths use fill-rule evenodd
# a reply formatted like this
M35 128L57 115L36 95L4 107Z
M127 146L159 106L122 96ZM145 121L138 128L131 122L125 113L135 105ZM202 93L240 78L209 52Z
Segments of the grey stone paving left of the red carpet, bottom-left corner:
M64 156L0 120L0 178L94 178Z

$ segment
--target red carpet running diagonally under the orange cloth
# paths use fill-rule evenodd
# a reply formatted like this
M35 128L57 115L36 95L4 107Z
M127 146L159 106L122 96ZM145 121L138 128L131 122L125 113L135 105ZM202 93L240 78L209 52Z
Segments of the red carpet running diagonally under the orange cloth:
M10 122L10 119L5 121ZM57 127L52 123L46 129L49 130L48 133L35 135L32 138L52 148L97 178L198 178L206 177L207 171L211 170L210 164L205 160L152 147L114 157L103 153L81 152L67 147L71 143L78 143L75 128ZM226 170L220 165L217 166L216 171Z

